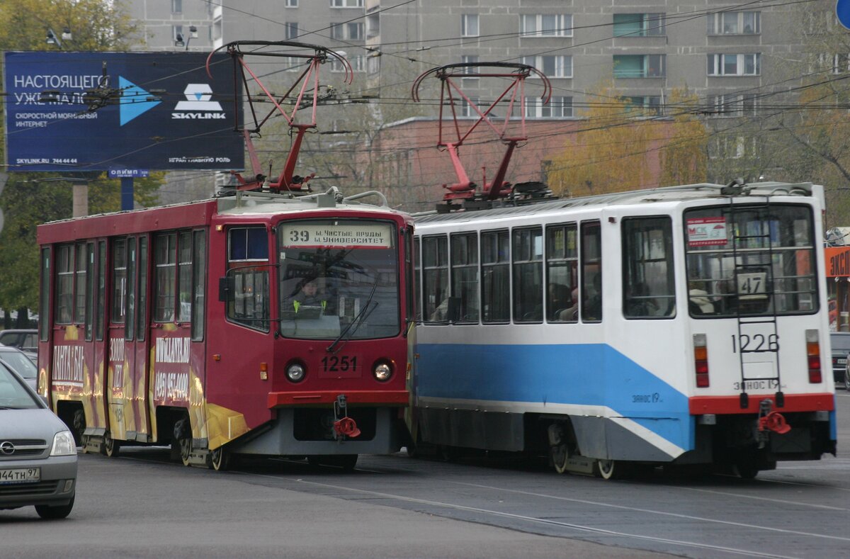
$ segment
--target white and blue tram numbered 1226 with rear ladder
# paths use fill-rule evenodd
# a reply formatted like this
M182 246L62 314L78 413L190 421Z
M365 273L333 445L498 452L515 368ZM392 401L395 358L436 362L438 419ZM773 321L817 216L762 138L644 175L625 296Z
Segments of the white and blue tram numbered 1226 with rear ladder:
M414 438L605 478L835 455L822 197L693 184L418 217Z

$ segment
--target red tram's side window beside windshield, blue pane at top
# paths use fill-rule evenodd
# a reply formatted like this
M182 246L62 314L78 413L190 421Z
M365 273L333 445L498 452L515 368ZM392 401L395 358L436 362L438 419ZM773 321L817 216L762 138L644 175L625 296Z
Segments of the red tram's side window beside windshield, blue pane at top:
M234 297L228 302L229 319L269 331L269 235L265 227L228 231L228 276Z

